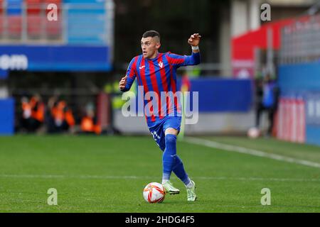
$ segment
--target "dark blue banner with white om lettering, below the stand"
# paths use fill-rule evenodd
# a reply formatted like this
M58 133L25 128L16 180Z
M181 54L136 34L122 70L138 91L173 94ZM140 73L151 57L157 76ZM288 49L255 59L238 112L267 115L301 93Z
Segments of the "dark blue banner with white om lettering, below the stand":
M107 46L7 45L0 46L0 70L108 71Z

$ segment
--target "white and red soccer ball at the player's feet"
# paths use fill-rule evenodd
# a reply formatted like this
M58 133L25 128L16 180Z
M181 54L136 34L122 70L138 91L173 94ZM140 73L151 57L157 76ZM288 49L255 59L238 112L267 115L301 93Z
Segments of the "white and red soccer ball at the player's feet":
M161 203L166 196L166 190L162 184L151 182L144 187L144 200L150 204Z

